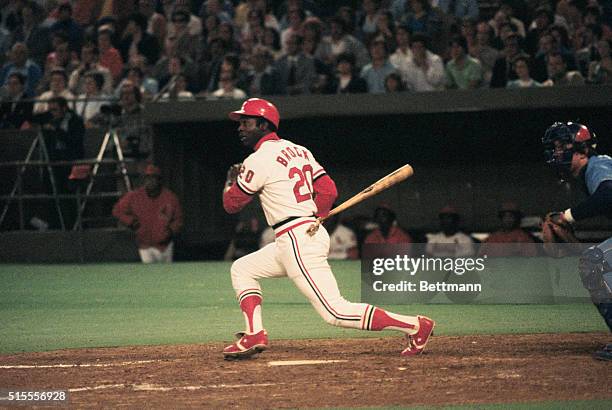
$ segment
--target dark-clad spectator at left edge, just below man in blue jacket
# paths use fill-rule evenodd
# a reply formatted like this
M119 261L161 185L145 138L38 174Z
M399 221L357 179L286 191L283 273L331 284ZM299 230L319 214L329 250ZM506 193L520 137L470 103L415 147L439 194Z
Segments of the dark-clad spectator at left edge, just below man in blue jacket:
M25 93L26 78L23 74L9 74L4 86L6 94L0 104L0 128L20 129L32 117L33 104Z

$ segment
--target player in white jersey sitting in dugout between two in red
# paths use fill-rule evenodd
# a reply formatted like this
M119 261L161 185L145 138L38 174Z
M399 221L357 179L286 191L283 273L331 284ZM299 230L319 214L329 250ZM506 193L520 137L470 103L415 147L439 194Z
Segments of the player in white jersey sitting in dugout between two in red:
M425 252L436 257L466 257L474 255L474 240L459 231L459 212L447 205L438 213L440 232L428 233Z

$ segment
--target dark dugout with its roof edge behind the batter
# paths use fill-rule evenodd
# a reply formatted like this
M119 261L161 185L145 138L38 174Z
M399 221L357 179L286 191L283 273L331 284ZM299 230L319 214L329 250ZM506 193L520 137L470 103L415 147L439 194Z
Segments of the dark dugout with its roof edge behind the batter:
M408 182L346 211L370 216L381 202L397 211L412 233L437 229L437 212L453 203L462 225L472 232L495 229L504 201L519 203L527 215L564 209L580 199L576 189L561 189L543 164L540 138L554 121L580 121L599 137L602 153L612 153L609 134L612 86L486 89L387 95L300 96L271 98L281 113L279 134L305 144L335 179L339 201L393 169L410 163ZM238 218L256 216L254 201L242 216L227 215L221 191L228 167L248 151L238 141L236 123L227 118L241 101L149 103L155 161L164 182L182 201L185 228L176 259L223 256ZM99 146L100 132L88 136L88 152ZM0 134L2 160L20 160L32 135ZM12 185L1 170L2 192ZM608 234L612 225L592 220L579 226ZM0 261L80 262L138 260L130 232L87 233L10 231L0 233ZM49 247L48 244L54 246ZM104 245L101 252L96 243ZM46 254L45 254L46 252Z

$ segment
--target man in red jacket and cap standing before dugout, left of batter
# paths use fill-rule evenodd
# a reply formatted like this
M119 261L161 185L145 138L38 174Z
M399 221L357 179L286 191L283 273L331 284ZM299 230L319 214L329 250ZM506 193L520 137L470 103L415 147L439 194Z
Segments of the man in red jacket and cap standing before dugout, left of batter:
M121 197L113 216L136 233L143 263L172 262L173 239L183 227L183 210L177 196L162 186L157 166L147 165L143 185Z

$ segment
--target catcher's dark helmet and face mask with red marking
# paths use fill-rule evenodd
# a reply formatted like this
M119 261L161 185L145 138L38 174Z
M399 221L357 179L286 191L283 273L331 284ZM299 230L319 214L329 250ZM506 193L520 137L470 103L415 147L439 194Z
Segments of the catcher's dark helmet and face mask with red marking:
M555 122L542 138L546 162L560 169L569 170L574 152L588 154L597 147L595 134L577 122Z

